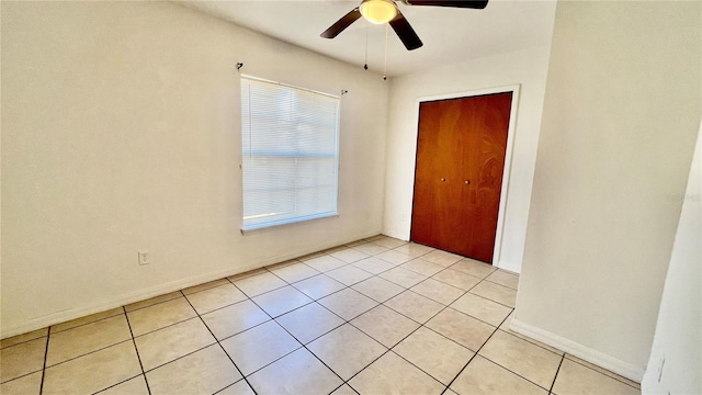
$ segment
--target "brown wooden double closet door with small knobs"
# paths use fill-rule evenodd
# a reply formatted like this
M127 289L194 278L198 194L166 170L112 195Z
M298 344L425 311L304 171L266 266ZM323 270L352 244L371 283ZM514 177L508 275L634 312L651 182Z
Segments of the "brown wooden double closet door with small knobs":
M411 240L492 262L512 93L422 102Z

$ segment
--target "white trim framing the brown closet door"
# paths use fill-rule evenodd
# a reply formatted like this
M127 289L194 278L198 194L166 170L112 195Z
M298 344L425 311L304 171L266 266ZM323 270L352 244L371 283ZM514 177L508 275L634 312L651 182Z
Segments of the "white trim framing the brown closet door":
M437 101L437 100L448 100L448 99L461 99L461 98L471 98L471 97L479 97L486 94L494 93L507 93L512 92L512 102L510 104L510 113L509 113L509 127L507 129L507 147L505 148L505 168L502 170L502 189L500 191L500 206L497 213L497 232L495 234L495 248L492 250L492 266L500 268L501 264L501 250L502 250L502 234L505 229L505 214L507 211L507 198L509 193L509 180L512 170L512 154L514 148L514 131L517 129L517 114L519 108L519 97L520 97L521 84L508 84L500 87L491 87L491 88L483 88L475 89L469 91L460 91L460 92L450 92L450 93L441 93L433 94L428 97L420 97L415 100L416 111L415 111L415 142L419 136L419 109L421 103ZM417 179L417 149L418 145L415 147L415 165L414 165L414 180ZM415 210L415 189L412 188L412 211ZM410 213L411 215L411 213ZM411 221L408 222L408 232L411 239Z

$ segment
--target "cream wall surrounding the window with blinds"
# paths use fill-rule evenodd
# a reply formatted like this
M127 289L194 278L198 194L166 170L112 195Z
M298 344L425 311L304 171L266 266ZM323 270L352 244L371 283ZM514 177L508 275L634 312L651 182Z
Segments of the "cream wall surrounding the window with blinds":
M238 61L349 90L339 217L240 234ZM387 100L377 75L178 4L3 1L2 337L377 234Z

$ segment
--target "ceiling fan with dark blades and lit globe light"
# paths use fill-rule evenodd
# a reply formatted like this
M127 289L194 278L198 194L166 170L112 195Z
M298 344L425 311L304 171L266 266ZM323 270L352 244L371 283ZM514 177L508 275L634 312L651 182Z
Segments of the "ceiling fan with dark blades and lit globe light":
M407 5L437 5L468 9L484 9L488 0L399 0ZM335 24L329 26L321 36L333 38L343 32L359 18L365 18L374 24L389 23L397 33L399 40L408 50L417 49L423 44L412 26L407 22L403 13L397 8L395 0L363 0L361 4L349 11Z

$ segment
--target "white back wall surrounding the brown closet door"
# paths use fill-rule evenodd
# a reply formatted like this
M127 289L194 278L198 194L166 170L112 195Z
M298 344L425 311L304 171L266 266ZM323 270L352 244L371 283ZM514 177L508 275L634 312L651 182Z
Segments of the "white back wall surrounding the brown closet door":
M555 9L555 7L554 7ZM541 125L548 46L482 58L393 79L387 137L383 233L409 239L419 98L520 84L502 245L494 264L521 270Z

